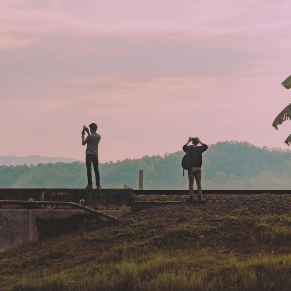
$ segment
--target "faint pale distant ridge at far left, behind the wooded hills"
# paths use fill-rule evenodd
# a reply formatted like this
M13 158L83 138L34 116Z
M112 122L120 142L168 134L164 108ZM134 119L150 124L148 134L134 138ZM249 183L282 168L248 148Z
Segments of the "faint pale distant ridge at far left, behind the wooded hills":
M39 155L31 155L28 157L16 157L16 156L0 156L0 166L16 166L20 164L38 165L40 163L48 162L77 162L76 159L63 158L63 157L42 157Z

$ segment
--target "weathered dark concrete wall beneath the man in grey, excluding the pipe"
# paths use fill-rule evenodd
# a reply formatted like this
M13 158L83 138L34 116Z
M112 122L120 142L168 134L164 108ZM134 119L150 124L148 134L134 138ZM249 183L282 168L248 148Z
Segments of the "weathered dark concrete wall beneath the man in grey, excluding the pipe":
M0 200L68 201L102 210L115 217L123 216L133 207L132 189L0 189ZM25 209L26 208L26 209ZM37 220L66 220L87 214L70 206L0 205L0 252L38 240ZM85 219L85 218L84 218ZM101 219L101 218L99 218ZM102 218L103 219L103 218Z

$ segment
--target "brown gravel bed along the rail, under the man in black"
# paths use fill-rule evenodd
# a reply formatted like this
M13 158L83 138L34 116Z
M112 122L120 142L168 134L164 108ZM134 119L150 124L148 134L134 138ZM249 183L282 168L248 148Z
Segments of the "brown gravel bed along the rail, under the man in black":
M291 214L291 195L288 194L209 194L202 196L205 204L196 204L187 199L188 195L134 195L134 201L181 201L181 203L154 205L144 210L137 210L124 220L141 222L157 219L164 225L174 226L181 220L191 223L197 219L226 215ZM197 197L195 199L197 200Z

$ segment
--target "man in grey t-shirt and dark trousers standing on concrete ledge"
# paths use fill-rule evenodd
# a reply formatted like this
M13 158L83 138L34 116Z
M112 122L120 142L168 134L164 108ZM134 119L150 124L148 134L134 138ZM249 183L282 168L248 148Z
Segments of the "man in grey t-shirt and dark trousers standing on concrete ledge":
M90 132L89 132L90 129ZM100 134L96 132L97 124L91 123L89 125L89 129L86 126L83 126L82 134L82 146L87 144L86 149L86 167L87 167L87 178L88 178L88 185L85 187L86 189L92 189L92 163L95 172L96 178L96 186L97 189L100 189L100 176L99 176L99 169L98 169L98 145L101 139ZM88 136L85 139L85 131L87 132Z

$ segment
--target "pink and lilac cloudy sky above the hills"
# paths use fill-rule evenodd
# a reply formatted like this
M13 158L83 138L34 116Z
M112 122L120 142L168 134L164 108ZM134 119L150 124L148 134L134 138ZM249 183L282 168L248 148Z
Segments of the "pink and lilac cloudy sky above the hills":
M206 144L282 147L291 2L0 0L0 155L100 162Z

